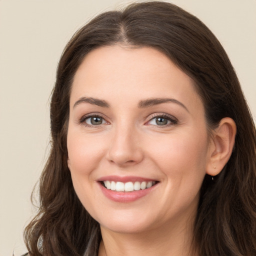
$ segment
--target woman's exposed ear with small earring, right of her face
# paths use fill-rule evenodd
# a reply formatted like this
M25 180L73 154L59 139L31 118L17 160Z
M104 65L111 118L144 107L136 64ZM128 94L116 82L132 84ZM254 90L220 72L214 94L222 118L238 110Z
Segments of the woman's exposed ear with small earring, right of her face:
M235 134L234 120L229 117L222 118L210 138L207 174L215 176L223 169L232 153Z

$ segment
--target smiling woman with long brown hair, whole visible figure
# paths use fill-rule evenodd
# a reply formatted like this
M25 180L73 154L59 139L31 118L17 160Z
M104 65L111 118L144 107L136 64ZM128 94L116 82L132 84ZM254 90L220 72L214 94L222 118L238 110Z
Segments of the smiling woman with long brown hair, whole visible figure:
M131 4L60 58L30 255L256 255L256 138L232 65L196 17Z

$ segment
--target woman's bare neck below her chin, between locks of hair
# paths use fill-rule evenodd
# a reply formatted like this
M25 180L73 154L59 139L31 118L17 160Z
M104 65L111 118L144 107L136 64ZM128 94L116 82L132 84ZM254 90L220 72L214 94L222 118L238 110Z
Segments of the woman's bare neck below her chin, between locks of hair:
M101 226L99 256L196 256L191 222L146 230L139 233L116 233Z

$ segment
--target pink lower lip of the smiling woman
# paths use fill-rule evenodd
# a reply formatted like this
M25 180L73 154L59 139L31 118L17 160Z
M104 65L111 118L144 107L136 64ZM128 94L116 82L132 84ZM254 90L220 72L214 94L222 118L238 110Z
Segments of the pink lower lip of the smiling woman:
M134 190L131 192L119 192L119 191L107 189L101 183L99 183L99 186L103 194L107 198L115 202L132 202L150 193L156 185L153 185L145 189Z

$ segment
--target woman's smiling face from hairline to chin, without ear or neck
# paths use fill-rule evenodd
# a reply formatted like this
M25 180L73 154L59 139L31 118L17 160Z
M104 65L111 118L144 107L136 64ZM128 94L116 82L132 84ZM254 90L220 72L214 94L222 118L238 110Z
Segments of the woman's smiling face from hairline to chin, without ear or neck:
M115 45L85 56L70 94L68 167L102 228L191 223L209 143L192 79L163 53Z

